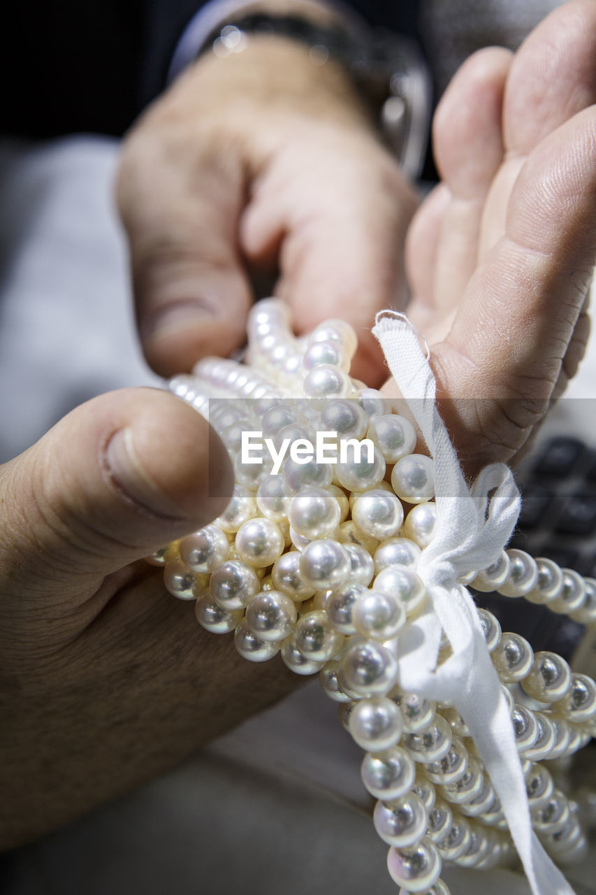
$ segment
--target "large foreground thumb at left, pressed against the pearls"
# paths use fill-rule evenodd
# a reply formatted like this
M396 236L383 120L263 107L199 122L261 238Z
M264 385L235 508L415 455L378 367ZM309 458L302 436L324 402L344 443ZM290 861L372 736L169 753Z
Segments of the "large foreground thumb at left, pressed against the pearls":
M232 487L226 450L191 406L149 388L94 398L0 468L4 581L85 599L105 575L209 523Z

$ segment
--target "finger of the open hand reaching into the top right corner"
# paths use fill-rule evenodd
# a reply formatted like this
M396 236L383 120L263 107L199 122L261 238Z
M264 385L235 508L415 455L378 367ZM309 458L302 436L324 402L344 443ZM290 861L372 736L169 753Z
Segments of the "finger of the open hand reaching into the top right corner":
M550 13L515 54L503 104L506 159L487 200L480 260L505 233L507 201L528 153L596 102L596 4L574 0Z

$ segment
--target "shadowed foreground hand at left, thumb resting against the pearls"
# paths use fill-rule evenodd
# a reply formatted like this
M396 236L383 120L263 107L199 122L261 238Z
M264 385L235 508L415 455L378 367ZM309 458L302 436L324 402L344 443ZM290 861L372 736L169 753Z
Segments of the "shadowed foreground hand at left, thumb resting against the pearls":
M89 401L0 467L0 850L179 763L296 684L138 561L210 522L223 449L178 398ZM209 439L209 446L217 438ZM219 488L217 492L221 493Z

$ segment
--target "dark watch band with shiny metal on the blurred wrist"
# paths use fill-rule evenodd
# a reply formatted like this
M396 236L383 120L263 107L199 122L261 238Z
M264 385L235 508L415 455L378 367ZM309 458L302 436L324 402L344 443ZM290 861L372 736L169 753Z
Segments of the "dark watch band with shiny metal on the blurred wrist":
M291 38L311 49L314 64L328 58L342 64L371 108L379 132L404 173L415 180L426 156L430 130L430 75L413 40L373 29L349 16L321 24L296 14L246 13L219 21L195 58L211 50L237 53L252 34Z

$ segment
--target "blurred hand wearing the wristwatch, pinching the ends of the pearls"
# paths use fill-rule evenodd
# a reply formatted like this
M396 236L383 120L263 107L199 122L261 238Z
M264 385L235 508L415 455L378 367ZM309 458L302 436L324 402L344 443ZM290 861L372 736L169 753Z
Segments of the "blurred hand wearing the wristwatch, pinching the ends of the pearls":
M273 292L299 333L349 320L353 374L382 381L370 326L404 306L416 200L341 66L269 36L201 56L128 137L117 192L158 372L243 345L248 308Z

